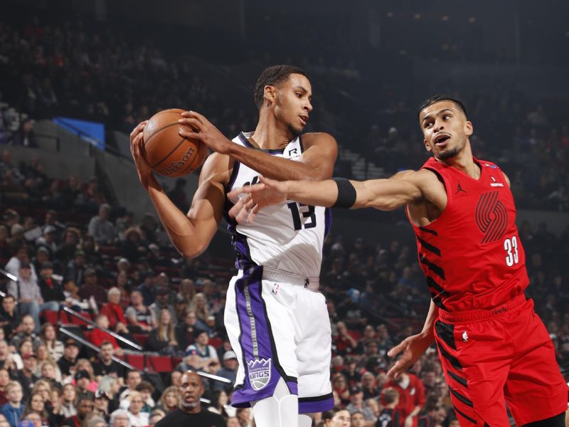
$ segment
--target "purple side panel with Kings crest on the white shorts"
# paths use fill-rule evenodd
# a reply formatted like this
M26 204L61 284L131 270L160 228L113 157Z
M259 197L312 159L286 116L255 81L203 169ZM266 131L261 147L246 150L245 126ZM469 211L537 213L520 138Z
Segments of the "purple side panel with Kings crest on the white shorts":
M231 404L236 407L247 407L251 401L272 396L281 378L276 366L278 358L272 353L271 332L261 292L262 268L246 270L243 277L235 282L241 327L240 344L243 349L240 363L245 368L245 384L233 392ZM296 388L294 392L298 392Z

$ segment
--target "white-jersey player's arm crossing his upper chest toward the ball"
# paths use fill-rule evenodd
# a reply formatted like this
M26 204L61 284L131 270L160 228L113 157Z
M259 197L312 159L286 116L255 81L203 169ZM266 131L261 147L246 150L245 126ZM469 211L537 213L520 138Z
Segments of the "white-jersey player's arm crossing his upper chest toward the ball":
M231 158L243 163L267 176L279 181L287 179L327 179L332 176L334 163L338 156L336 139L327 133L309 133L302 136L304 152L299 160L290 160L272 156L258 149L251 149L235 144L226 138L217 127L195 111L182 114L180 124L191 127L191 130L181 130L180 136L199 139L213 151L228 154Z

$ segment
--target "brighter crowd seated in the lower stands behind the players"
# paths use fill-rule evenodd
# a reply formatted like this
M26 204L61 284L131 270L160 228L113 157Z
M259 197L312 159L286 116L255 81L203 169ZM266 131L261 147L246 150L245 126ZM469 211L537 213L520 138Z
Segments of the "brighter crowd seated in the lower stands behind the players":
M176 406L181 373L193 369L228 380L204 379L204 397L213 411L248 426L248 411L225 406L238 366L223 327L232 260L211 253L182 260L154 216L135 223L132 213L102 197L93 200L100 203L95 214L70 217L63 209L40 209L58 206L53 201L66 194L74 196L65 200L90 200L85 191L91 187L68 179L55 194L50 178L38 170L38 159L16 166L4 150L0 179L8 174L10 185L21 184L15 199L10 186L0 191L0 200L10 203L3 206L11 206L0 213L0 264L18 278L17 283L0 281L6 292L0 310L0 404L9 425L39 416L50 426L78 426L85 420L95 426L93 419L108 422L114 414L128 417L131 426L146 426L151 414ZM27 191L36 204L24 196ZM569 269L563 261L569 255L569 230L557 238L545 224L523 223L520 233L531 278L528 295L567 375ZM393 362L386 352L420 330L429 304L415 248L403 242L371 245L332 234L324 246L321 288L333 332L331 381L336 406L351 414L353 426L389 417L403 423L409 416L420 426L448 426L455 418L435 349L398 381L386 376ZM58 330L69 322L57 315L63 307L101 328L73 329L98 351ZM176 366L159 374L159 381L147 381L152 378L112 359L128 361L140 354L129 342L142 344L149 357L169 357Z

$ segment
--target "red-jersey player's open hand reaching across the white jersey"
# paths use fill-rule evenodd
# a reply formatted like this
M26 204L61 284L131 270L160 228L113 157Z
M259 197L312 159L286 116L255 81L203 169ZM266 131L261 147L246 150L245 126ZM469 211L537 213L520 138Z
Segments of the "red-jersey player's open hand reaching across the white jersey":
M228 197L235 202L229 215L238 223L252 222L260 209L287 200L286 182L259 176L260 183L246 185L230 191Z

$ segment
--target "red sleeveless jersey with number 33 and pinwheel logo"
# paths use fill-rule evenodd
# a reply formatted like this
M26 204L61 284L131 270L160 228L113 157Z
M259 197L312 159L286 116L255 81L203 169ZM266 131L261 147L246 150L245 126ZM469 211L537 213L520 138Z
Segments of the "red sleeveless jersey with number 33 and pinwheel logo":
M447 207L426 227L412 223L432 300L449 312L496 307L520 295L529 282L504 174L494 163L474 162L479 179L434 157L427 160L422 169L445 184Z

